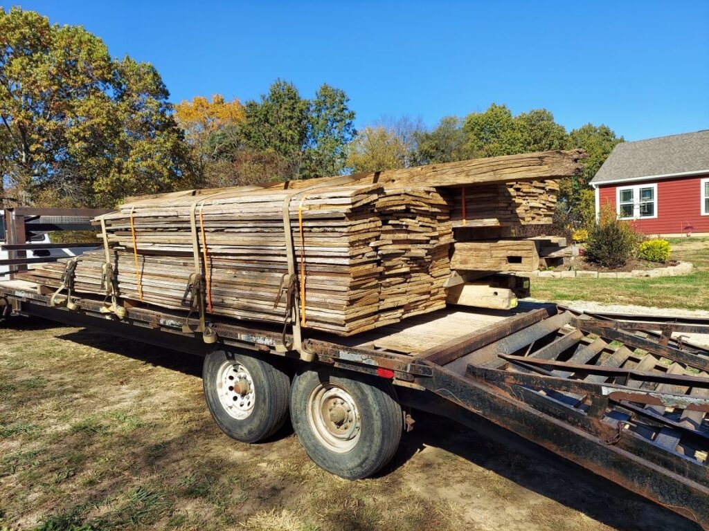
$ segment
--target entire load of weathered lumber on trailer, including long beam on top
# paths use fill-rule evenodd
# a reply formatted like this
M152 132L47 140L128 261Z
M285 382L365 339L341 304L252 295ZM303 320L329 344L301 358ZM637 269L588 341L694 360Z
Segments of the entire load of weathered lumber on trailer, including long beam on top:
M298 284L291 295L302 294L303 325L350 335L396 323L445 306L452 266L476 270L484 253L490 273L509 271L508 256L529 261L525 253L536 247L528 241L511 250L464 249L476 242L458 241L451 253L452 229L543 222L555 201L554 181L579 173L583 158L580 150L542 152L133 198L104 216L119 296L184 308L197 263L209 313L283 323L286 201ZM102 293L104 261L101 251L78 259L77 291ZM537 267L538 261L537 252ZM48 264L23 276L57 287L63 268Z

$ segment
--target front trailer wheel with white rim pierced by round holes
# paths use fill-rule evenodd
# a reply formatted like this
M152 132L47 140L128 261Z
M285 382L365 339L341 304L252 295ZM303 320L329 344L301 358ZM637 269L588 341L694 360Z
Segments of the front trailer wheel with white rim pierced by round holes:
M269 362L213 350L204 358L202 381L209 412L231 438L258 442L286 420L290 379Z

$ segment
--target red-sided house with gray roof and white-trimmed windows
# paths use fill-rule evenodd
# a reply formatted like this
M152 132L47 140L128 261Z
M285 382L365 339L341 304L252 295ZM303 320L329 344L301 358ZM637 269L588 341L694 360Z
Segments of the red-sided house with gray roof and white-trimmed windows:
M610 205L644 234L709 235L709 130L618 144L596 176Z

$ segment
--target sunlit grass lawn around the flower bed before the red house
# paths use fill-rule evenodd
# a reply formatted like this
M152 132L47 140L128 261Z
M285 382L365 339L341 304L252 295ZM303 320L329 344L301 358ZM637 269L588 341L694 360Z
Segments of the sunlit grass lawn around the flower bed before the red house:
M709 238L670 239L672 258L694 264L691 275L660 278L532 278L532 297L660 308L709 310Z

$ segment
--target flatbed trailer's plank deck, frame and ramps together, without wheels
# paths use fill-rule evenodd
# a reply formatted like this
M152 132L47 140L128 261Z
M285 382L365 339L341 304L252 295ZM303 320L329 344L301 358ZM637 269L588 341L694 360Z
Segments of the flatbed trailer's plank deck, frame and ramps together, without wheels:
M0 282L5 313L89 326L188 353L210 346L182 312L127 307L123 321L90 297L50 307L30 282ZM1 308L0 308L1 311ZM220 319L224 345L277 350L279 326ZM449 308L342 338L312 333L316 362L391 379L401 403L464 421L482 416L709 528L709 350L679 333L709 320L583 314L554 304L515 312Z

